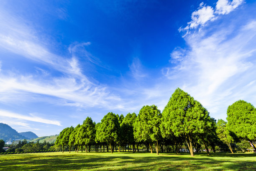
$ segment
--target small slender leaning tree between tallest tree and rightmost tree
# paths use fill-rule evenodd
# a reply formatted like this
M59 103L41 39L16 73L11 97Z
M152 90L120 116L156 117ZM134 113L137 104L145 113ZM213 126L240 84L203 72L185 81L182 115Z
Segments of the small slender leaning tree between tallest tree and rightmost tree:
M226 124L227 123L224 120L219 119L217 122L216 133L217 133L217 136L220 138L220 140L222 140L225 144L228 145L228 148L230 149L231 153L233 153L233 150L230 144L234 142L234 138L230 130L228 130Z

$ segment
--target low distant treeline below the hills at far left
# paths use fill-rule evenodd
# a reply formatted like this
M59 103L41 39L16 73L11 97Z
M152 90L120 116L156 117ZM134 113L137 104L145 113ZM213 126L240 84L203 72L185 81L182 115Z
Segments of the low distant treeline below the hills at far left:
M9 147L8 150L3 150L5 142L0 140L0 154L19 154L19 153L41 153L41 152L53 152L53 151L60 151L54 143L49 143L44 141L43 143L39 143L37 141L28 142L26 139L19 140L18 143L13 142L10 145L5 145L5 147Z

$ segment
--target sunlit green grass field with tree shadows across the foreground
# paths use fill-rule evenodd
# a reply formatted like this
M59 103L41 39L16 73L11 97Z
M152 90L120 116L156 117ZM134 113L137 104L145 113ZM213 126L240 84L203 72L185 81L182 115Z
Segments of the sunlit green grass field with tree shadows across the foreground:
M0 155L0 170L27 171L256 171L253 153L29 153Z

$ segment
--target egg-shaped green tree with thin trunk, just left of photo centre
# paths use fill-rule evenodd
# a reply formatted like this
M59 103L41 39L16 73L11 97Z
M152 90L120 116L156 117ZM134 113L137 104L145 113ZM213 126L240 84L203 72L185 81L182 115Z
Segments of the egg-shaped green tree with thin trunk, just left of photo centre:
M113 145L120 136L120 125L118 123L118 117L109 112L103 117L101 123L97 129L97 139L100 142L108 142L110 145L111 153L113 153Z

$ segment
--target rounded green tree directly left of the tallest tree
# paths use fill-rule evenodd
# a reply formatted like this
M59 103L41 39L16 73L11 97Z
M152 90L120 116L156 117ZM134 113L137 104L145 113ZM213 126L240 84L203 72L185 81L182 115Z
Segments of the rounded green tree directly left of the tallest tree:
M161 138L161 112L156 105L143 106L134 123L134 137L139 141L149 142L151 153L152 144L156 147L156 154L159 154L158 140Z

